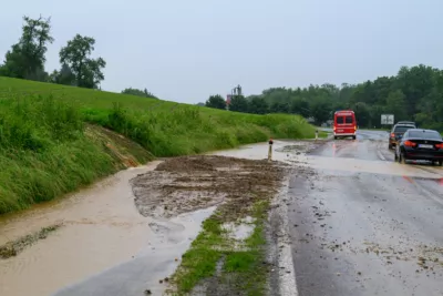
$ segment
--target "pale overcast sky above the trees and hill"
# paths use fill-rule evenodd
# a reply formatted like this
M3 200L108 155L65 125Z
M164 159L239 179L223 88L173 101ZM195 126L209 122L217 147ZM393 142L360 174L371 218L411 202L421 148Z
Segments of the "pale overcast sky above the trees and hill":
M91 35L104 90L197 103L238 83L253 94L443 68L442 11L442 0L16 0L0 9L0 55L23 14L51 16L47 71L75 33Z

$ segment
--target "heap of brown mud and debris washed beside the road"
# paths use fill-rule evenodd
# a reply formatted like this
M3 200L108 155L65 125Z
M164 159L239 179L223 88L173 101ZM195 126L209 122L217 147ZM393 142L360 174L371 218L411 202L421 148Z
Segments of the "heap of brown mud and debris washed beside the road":
M235 221L276 192L286 165L275 164L216 155L169 159L131 181L135 205L144 216L172 217L223 203L224 221Z

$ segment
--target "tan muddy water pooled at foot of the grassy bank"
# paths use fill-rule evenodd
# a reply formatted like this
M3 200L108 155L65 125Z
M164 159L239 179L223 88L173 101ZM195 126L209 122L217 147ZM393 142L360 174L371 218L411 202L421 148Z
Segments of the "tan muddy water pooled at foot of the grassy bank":
M0 245L49 225L63 226L17 257L0 259L0 295L49 295L136 255L152 231L134 206L128 181L156 164L122 171L60 202L3 217Z

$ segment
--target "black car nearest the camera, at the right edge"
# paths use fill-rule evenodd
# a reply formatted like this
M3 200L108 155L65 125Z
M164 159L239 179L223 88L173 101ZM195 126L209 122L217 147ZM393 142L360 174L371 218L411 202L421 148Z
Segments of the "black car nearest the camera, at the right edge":
M443 139L433 130L408 130L395 149L395 160L405 163L410 160L431 161L443 164Z

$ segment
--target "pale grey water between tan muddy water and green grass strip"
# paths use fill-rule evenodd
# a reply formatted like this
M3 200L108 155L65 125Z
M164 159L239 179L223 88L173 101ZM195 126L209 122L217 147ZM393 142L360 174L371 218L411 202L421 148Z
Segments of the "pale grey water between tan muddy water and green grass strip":
M150 223L155 235L151 236L148 247L130 261L73 283L52 295L135 296L143 295L145 290L150 290L152 295L163 295L168 287L167 278L177 268L182 254L197 236L203 221L214 211L215 206Z

